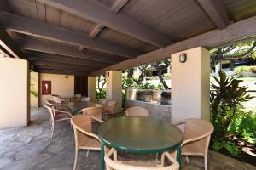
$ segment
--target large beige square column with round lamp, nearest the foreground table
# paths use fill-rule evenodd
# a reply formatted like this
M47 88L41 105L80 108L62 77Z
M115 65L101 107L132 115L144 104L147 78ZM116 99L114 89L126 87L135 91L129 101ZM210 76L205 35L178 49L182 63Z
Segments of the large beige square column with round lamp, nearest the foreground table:
M186 54L185 63L179 61ZM210 54L192 48L172 54L172 122L186 118L210 120Z

